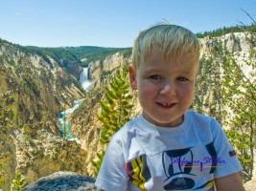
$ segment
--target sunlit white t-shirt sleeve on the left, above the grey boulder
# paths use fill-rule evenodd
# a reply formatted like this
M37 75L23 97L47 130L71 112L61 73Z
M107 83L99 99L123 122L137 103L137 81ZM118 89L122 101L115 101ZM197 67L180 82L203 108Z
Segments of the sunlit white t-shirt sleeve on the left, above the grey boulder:
M125 191L128 186L128 175L121 143L111 139L105 151L95 185L105 191Z

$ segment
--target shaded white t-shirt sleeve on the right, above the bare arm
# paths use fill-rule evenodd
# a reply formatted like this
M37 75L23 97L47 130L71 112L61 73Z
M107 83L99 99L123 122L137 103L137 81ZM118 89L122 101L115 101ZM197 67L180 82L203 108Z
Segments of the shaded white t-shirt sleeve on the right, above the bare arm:
M226 138L220 124L214 120L214 146L217 152L217 165L215 178L221 178L243 170L234 149Z

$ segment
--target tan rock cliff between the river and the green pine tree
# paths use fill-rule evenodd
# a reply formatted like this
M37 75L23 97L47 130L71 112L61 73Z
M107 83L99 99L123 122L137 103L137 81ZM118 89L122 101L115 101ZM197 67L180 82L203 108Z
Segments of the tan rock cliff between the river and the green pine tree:
M105 149L99 144L101 127L101 122L98 120L101 112L99 100L103 98L105 84L109 84L114 76L114 71L128 64L130 64L130 57L125 58L122 53L108 55L103 62L90 63L90 78L94 81L91 91L85 96L79 109L70 117L72 131L76 137L80 138L81 148L87 153L84 165L87 166L87 175L89 176L93 176L91 160L95 158L95 151ZM132 102L138 107L137 109L133 108L131 112L131 115L135 116L141 111L136 96Z

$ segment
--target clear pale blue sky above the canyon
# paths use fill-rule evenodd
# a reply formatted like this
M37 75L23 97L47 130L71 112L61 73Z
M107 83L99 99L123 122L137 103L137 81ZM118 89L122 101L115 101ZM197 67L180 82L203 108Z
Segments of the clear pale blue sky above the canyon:
M0 0L0 38L22 46L131 47L159 22L192 32L250 24L256 0Z

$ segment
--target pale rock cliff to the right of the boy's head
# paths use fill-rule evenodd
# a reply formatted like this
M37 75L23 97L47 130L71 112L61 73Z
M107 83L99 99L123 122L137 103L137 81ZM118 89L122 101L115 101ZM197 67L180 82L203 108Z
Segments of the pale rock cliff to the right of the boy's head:
M200 71L194 106L197 104L197 99L200 100L201 107L195 109L205 115L216 117L224 128L228 128L228 125L223 125L221 116L223 109L232 114L230 108L221 104L221 77L224 73L222 69L224 56L221 52L233 53L234 60L243 66L243 73L250 77L253 68L246 62L255 61L255 57L251 57L251 52L256 49L256 35L254 32L234 32L219 37L206 36L199 41Z

